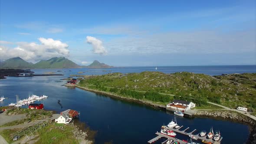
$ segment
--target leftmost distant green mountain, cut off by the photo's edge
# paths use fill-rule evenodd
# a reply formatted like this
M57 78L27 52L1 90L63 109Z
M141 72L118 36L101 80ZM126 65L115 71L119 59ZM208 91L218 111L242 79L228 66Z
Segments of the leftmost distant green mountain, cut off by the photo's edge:
M0 62L1 69L24 69L24 68L32 68L32 62L26 62L20 57L15 57L11 59L7 59L6 61Z

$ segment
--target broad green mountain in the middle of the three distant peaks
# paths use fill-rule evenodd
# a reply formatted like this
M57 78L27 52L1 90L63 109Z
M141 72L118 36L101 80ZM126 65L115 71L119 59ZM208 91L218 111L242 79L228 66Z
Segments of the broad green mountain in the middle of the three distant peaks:
M54 57L48 60L41 60L33 65L34 68L45 69L45 68L80 68L75 62L72 62L65 57Z

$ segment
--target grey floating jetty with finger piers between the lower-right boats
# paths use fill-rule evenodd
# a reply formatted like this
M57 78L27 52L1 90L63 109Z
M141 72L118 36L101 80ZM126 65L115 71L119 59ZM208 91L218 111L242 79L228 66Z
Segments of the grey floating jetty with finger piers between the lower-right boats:
M179 129L180 129L180 128L179 128ZM174 130L175 130L175 129L174 129ZM177 129L176 129L176 130L177 130ZM176 132L178 132L178 131L179 131L179 130L177 130ZM185 130L184 130L184 131L185 131ZM193 133L194 131L196 131L196 130L194 130L194 131L192 131L192 132L190 132L190 133L185 133L184 131L179 131L178 133L185 134L185 135L193 135L192 133ZM165 134L161 134L160 132L156 132L155 134L158 135L158 136L157 136L157 137L154 137L153 139L151 139L150 141L148 141L149 144L154 143L155 141L159 140L159 139L162 138L162 137L167 138L167 140L173 140L173 142L178 141L178 142L180 142L180 144L187 144L187 142L184 142L184 141L182 141L182 140L180 140L180 139L177 139L177 138L175 138L175 137L171 137L171 136L167 136L167 135L165 135ZM210 141L210 142L212 142L212 144L220 144L220 141L222 140L222 137L220 138L219 141L213 141L212 139L207 139L206 137L199 137L199 135L194 135L194 136L197 137L198 140ZM167 140L166 140L166 141L167 141ZM173 143L173 142L172 142L172 143Z

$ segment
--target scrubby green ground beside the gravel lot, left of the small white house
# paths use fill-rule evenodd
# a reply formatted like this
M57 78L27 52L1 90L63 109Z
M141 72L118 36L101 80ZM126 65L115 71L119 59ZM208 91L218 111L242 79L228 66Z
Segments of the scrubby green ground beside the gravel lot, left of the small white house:
M14 115L25 114L26 118L21 119L21 120L12 121L7 124L3 124L0 127L7 127L7 126L23 124L24 122L30 122L30 121L34 121L34 120L42 120L45 118L50 118L53 115L52 111L45 111L45 110L41 110L41 109L27 109L27 108L21 108L20 110L9 109L7 111L7 115L9 113L14 114Z

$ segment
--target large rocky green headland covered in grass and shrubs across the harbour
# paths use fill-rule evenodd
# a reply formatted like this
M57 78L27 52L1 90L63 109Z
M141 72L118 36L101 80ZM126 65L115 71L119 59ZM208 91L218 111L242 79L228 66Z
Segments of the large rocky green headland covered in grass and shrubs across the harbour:
M111 73L86 78L79 85L150 101L181 99L204 108L209 107L207 101L212 101L232 108L251 106L256 110L256 73L220 76L190 72Z

